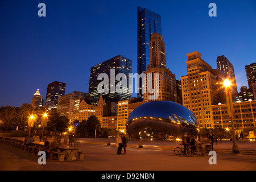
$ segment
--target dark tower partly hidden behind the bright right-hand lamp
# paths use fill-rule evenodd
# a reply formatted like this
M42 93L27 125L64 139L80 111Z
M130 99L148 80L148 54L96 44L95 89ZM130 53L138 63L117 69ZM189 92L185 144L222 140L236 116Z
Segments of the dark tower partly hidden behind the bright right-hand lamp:
M234 74L233 64L224 56L217 57L217 68L224 74L224 77L232 82L232 98L237 94L237 82Z

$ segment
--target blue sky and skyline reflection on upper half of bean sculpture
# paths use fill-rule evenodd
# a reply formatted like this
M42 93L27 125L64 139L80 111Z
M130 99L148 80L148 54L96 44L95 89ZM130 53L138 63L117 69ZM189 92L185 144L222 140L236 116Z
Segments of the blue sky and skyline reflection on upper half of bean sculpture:
M152 101L138 106L131 112L128 121L133 122L140 117L168 119L178 124L197 126L197 119L189 109L171 101Z

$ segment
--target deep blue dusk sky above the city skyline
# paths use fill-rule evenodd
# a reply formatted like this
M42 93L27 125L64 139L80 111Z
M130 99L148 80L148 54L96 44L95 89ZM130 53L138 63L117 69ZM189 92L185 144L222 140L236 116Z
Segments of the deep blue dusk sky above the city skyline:
M46 17L38 4L46 4ZM216 3L217 16L208 7ZM217 68L217 56L234 65L238 92L248 86L245 65L256 62L256 1L0 1L0 106L31 104L36 89L65 82L65 94L88 92L90 67L114 56L137 72L137 7L161 15L167 68L187 75L187 53Z

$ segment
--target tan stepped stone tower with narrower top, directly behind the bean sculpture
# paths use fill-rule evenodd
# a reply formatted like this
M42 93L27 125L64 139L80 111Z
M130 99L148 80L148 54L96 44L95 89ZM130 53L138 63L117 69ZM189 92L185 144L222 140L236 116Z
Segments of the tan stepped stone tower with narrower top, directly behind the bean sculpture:
M166 68L166 48L160 34L151 36L150 65L145 72L144 86L144 102L177 102L176 76Z

